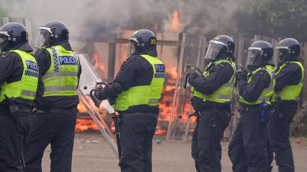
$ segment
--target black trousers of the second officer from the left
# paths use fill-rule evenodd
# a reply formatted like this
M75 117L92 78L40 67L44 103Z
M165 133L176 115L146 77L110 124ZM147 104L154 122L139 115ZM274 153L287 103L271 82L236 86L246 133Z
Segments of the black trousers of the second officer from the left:
M77 110L37 113L25 143L24 171L38 172L44 150L51 144L50 171L70 172Z

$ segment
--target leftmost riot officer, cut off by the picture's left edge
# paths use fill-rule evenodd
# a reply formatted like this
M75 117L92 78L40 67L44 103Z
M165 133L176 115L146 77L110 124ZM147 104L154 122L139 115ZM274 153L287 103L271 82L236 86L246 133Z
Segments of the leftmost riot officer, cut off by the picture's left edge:
M0 29L0 171L23 171L23 146L33 122L38 65L22 24Z

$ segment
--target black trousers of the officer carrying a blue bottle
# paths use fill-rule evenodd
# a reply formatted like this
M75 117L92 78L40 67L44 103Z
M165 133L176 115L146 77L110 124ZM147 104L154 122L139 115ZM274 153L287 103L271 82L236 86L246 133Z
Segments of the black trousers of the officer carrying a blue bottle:
M266 172L266 124L260 122L259 111L243 112L228 146L234 172Z

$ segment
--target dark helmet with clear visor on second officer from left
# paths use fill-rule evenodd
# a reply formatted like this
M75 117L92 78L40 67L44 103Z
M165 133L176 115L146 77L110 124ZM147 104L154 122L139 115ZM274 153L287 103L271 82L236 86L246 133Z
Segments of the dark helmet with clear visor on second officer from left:
M69 30L60 21L49 21L39 28L34 48L40 49L42 46L51 47L63 42L68 42Z

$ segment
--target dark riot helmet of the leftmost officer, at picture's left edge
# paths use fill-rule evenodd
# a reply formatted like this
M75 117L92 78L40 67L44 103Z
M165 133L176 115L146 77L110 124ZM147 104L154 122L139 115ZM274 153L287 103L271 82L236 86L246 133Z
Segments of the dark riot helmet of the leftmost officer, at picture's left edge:
M23 46L23 49L31 50L28 43L28 31L24 25L16 22L4 24L0 29L1 51L15 50Z

